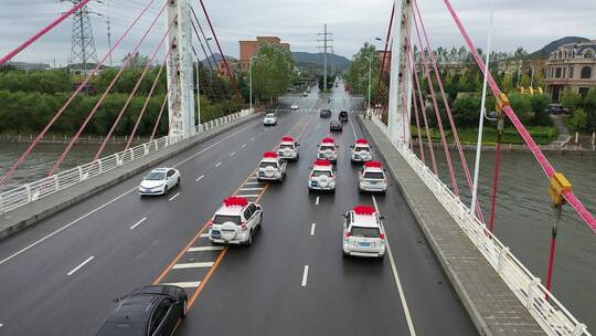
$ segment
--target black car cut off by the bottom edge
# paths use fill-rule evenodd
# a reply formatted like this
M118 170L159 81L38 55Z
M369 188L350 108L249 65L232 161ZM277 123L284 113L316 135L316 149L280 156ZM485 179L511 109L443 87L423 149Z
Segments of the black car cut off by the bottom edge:
M187 292L179 286L152 285L116 300L97 336L171 335L185 317Z

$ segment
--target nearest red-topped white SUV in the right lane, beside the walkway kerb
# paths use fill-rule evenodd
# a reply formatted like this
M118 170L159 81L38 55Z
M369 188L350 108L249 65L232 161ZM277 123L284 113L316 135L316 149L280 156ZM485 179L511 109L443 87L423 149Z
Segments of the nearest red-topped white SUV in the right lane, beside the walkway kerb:
M385 256L383 217L373 207L358 206L343 221L343 255Z

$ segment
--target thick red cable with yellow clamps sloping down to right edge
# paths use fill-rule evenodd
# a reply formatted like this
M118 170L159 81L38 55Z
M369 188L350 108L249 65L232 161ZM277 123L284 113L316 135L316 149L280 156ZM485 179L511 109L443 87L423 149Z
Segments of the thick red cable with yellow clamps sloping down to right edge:
M454 21L456 22L457 27L459 28L459 31L461 32L461 35L466 40L466 43L468 44L468 48L470 52L473 55L473 59L476 60L476 63L480 67L480 71L482 74L485 73L485 62L482 61L482 57L478 53L478 50L476 49L476 45L473 44L470 35L464 28L464 24L461 23L461 20L457 15L456 11L454 10L451 3L449 0L444 0L445 4L447 6L447 9L451 13L451 17L454 18ZM501 95L501 90L499 88L499 85L497 85L497 82L488 72L487 74L488 83L492 90L492 93L496 97ZM515 129L520 133L520 136L523 138L525 144L528 145L528 148L532 151L534 157L536 158L539 165L541 166L542 170L549 178L552 178L553 175L555 175L556 170L553 168L551 162L546 159L540 147L536 145L530 133L528 133L528 129L523 126L521 120L515 115L515 112L511 106L505 105L503 108L504 114L509 117ZM586 207L577 199L575 193L573 191L564 191L563 197L565 200L575 209L575 211L579 214L582 220L592 229L594 233L596 233L596 219L594 216L586 209Z

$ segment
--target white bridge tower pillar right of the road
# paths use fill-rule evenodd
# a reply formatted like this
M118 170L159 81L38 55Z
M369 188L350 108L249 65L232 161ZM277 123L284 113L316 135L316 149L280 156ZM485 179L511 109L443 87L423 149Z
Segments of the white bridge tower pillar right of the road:
M393 17L390 97L387 127L392 144L409 145L409 116L412 109L412 70L407 62L406 39L412 28L411 0L396 0ZM397 34L398 32L398 34Z

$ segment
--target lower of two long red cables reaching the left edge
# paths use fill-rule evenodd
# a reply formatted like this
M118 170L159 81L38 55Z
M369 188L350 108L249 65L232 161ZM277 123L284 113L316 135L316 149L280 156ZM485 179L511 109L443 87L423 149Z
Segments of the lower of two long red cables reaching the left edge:
M75 99L75 97L81 93L81 91L83 91L83 88L88 84L88 82L91 81L91 78L97 73L97 71L99 70L99 67L106 62L106 60L109 57L109 55L111 55L111 53L114 53L114 51L120 45L120 43L123 42L123 40L126 38L126 35L128 35L128 33L132 30L132 28L139 22L140 18L142 15L145 15L145 13L147 12L147 10L149 10L149 8L151 7L151 4L153 4L155 0L150 0L149 3L147 3L147 6L142 9L142 11L139 13L139 15L135 19L135 21L132 23L130 23L130 25L127 28L127 30L123 33L123 35L120 35L120 38L118 38L118 40L114 43L114 46L106 53L106 55L104 55L104 57L102 59L102 61L99 61L96 65L95 65L95 69L92 70L89 72L89 74L87 75L87 77L85 78L85 81L83 81L83 83L81 83L81 85L78 85L78 87L75 90L75 92L71 95L71 97L68 98L68 101L66 101L66 103L58 109L58 112L56 112L56 114L52 117L52 119L47 123L47 125L43 128L43 130L38 135L38 137L31 143L31 145L29 145L29 147L26 148L26 150L19 157L19 159L17 160L17 162L10 168L9 171L7 171L7 174L2 177L2 179L0 180L0 186L3 185L7 180L9 180L13 175L14 172L17 171L17 169L19 169L19 167L24 162L24 160L29 157L29 155L31 154L31 151L33 150L33 148L38 145L38 143L45 136L45 134L47 133L47 130L50 130L50 128L52 127L52 125L54 125L54 123L57 120L57 118L64 113L64 111L66 111L66 108L71 105L71 103Z

